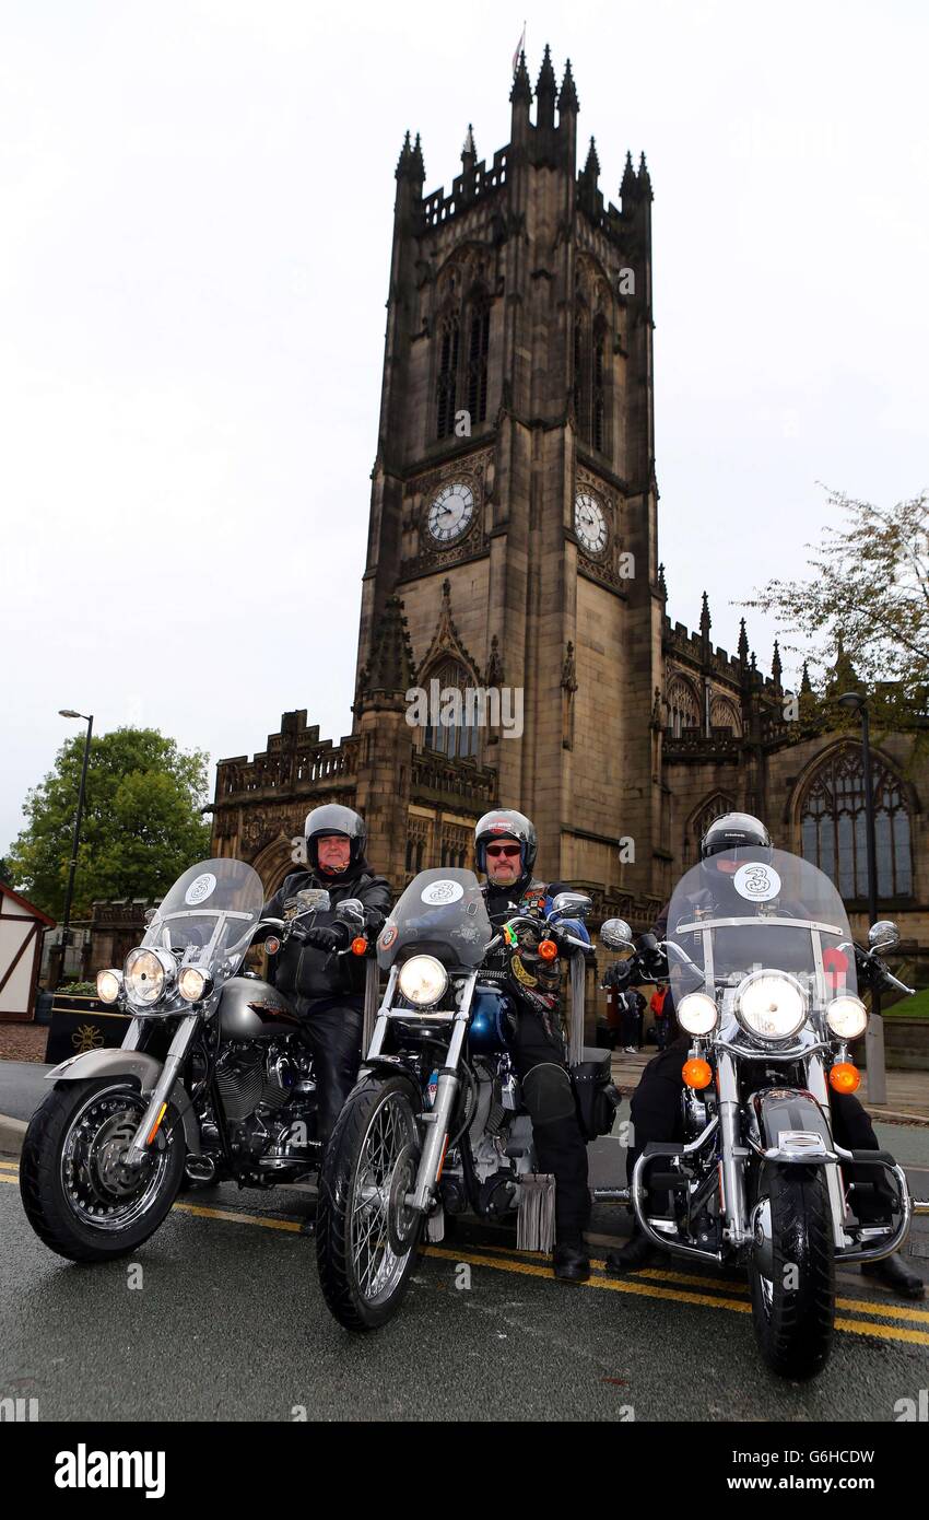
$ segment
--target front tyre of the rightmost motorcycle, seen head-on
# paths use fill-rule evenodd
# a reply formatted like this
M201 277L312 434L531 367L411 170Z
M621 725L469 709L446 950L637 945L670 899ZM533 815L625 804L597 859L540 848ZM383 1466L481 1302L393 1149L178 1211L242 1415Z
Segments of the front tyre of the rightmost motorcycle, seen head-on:
M815 1377L835 1321L832 1213L821 1167L765 1167L754 1207L748 1269L754 1333L782 1377Z

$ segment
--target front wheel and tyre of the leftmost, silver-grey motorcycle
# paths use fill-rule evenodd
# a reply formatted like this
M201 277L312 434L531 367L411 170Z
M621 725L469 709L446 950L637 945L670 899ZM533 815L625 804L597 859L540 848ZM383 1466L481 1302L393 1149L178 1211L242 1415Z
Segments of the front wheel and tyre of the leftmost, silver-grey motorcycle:
M111 1262L158 1230L184 1173L184 1126L170 1107L140 1166L124 1154L149 1107L126 1078L58 1082L36 1108L20 1157L29 1224L71 1262Z

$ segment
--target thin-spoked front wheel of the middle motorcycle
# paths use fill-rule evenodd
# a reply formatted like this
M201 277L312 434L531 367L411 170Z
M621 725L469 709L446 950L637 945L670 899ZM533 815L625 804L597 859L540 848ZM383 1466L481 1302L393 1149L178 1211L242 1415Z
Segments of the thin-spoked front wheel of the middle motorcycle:
M419 1164L416 1094L370 1078L339 1116L319 1183L316 1252L326 1304L348 1330L376 1330L399 1309L422 1216L407 1204Z

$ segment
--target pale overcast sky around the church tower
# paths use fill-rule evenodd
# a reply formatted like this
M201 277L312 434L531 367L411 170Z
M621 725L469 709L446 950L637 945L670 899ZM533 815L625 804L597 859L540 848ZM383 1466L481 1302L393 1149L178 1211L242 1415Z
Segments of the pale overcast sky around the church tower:
M735 651L817 482L929 485L923 5L5 0L0 853L59 707L213 760L351 730L393 170L507 143L527 15L609 199L648 158L672 619L706 587Z

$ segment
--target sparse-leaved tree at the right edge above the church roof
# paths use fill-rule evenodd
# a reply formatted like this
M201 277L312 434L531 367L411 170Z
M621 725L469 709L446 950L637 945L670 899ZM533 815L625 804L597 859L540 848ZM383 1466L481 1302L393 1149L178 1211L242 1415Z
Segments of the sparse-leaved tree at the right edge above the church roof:
M929 690L929 496L883 509L829 491L829 505L844 523L806 546L812 573L770 581L741 605L800 635L803 644L786 648L827 686L853 672L882 727L912 727Z

